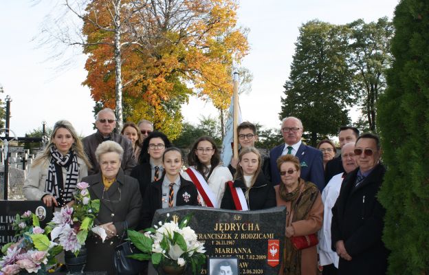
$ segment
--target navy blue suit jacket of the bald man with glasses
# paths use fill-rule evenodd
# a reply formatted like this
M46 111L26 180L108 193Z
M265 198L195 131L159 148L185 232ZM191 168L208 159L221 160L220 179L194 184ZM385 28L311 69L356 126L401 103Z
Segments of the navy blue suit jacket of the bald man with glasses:
M271 179L274 185L280 183L280 172L277 168L277 159L281 156L283 148L285 148L284 143L272 148L270 151ZM295 156L300 160L301 179L313 182L319 188L320 192L322 192L325 187L322 152L301 143Z

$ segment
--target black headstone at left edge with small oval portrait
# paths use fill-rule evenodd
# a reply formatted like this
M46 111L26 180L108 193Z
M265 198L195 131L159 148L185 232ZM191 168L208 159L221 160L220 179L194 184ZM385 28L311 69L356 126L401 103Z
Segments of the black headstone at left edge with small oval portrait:
M12 223L17 214L21 215L27 210L39 217L41 228L52 220L52 208L47 208L42 201L0 201L0 245L17 241Z

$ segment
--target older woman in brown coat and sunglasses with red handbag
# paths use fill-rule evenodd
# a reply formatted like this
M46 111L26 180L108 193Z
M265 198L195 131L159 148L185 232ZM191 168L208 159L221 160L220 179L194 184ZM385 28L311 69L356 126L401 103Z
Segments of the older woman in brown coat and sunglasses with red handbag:
M277 159L281 184L274 186L277 206L286 206L285 250L279 274L316 275L317 232L322 228L323 204L318 187L300 178L300 162L294 155ZM310 245L296 248L299 239L313 239ZM305 241L307 243L307 241Z

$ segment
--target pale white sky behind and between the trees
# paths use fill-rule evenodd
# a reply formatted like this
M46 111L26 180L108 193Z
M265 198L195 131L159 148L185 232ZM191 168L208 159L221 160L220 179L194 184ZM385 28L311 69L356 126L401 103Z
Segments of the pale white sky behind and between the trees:
M76 55L73 65L58 74L47 61L50 51L40 49L32 38L40 32L51 1L32 5L30 0L1 1L0 85L12 98L10 128L19 136L41 126L67 119L82 135L93 132L94 101L85 80L85 56ZM241 0L239 25L250 28L250 53L243 66L254 76L252 92L241 96L243 120L278 127L283 85L289 75L298 28L313 19L329 23L392 19L397 0ZM53 77L55 76L55 77ZM217 115L212 104L191 99L184 106L185 120L197 123L201 115ZM304 125L305 126L305 125Z

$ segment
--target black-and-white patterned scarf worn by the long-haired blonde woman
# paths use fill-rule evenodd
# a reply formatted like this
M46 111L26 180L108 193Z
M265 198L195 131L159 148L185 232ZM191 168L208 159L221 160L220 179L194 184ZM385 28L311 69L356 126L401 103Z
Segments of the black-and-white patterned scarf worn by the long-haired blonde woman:
M45 192L52 194L59 207L73 199L79 177L78 157L70 150L67 155L61 155L55 146L51 146L51 162L47 169ZM66 168L66 178L63 179L63 169Z

